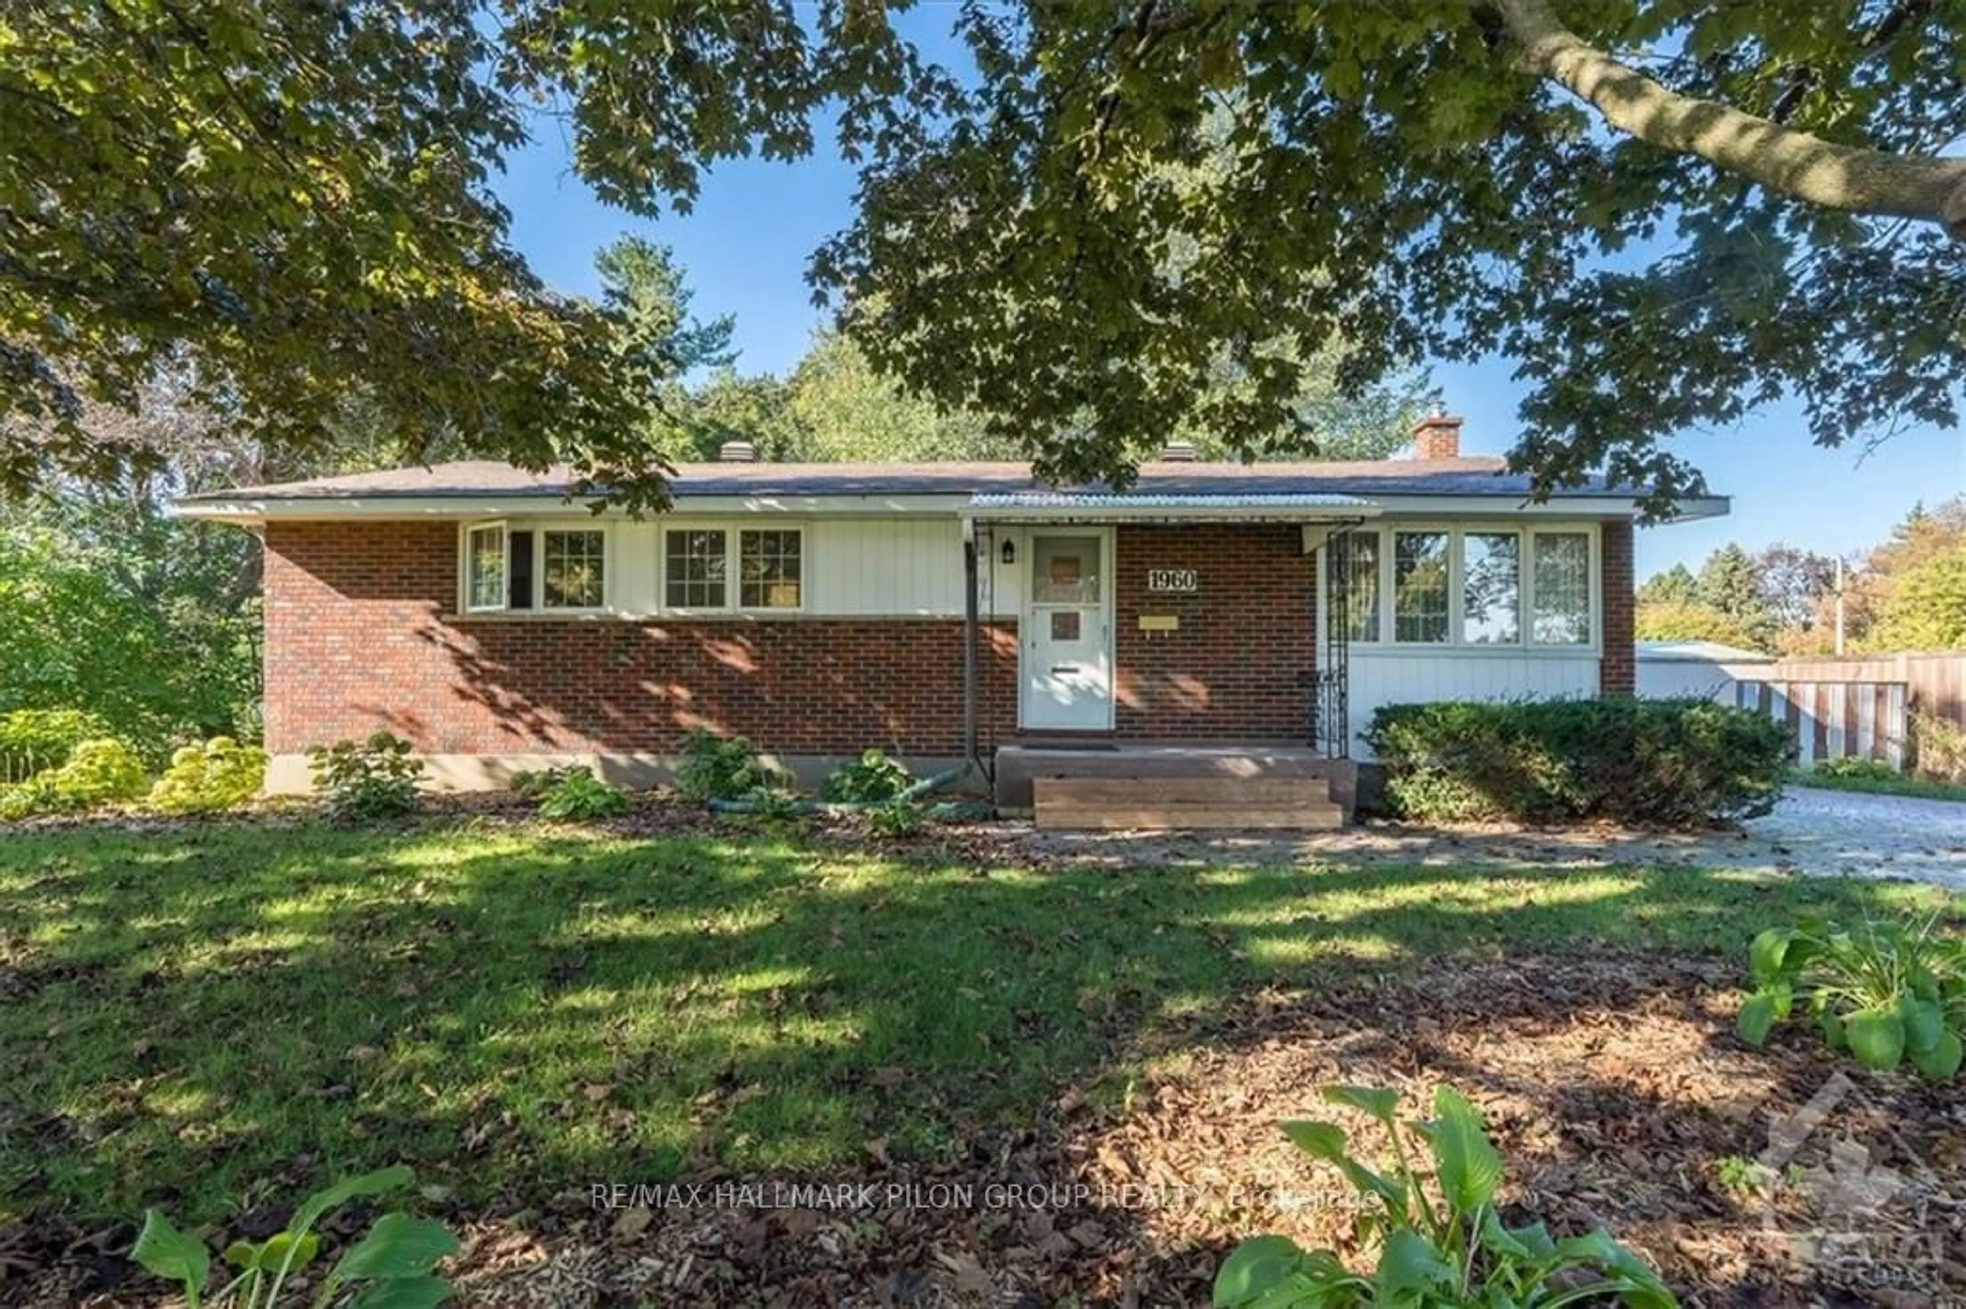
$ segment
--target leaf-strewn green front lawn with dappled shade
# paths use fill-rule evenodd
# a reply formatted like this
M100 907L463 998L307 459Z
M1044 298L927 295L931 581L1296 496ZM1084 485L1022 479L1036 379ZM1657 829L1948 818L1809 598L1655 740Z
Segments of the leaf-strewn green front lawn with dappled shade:
M952 1150L1256 987L1736 953L1935 892L1667 871L981 871L796 837L0 835L0 1221L210 1221L407 1162L460 1203Z

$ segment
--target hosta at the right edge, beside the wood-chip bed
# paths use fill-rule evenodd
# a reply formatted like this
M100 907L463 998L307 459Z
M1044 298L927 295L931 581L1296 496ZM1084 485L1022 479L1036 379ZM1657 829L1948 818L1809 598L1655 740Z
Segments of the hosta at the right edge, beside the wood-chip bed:
M1797 1012L1830 1050L1887 1073L1903 1063L1948 1079L1966 1053L1966 939L1923 924L1805 922L1748 949L1754 993L1736 1028L1750 1046Z

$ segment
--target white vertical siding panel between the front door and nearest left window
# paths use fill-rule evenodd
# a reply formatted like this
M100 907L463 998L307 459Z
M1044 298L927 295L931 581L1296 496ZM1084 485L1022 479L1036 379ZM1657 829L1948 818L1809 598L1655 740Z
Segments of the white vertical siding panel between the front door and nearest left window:
M834 519L806 525L808 613L961 615L963 529L948 519Z

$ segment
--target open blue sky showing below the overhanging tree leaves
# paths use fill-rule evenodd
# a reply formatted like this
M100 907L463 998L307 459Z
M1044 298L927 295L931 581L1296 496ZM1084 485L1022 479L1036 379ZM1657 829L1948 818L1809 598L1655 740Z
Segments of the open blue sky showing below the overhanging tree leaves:
M841 161L745 159L712 173L688 216L645 222L586 191L550 122L513 159L499 193L519 250L564 291L594 293L594 254L623 232L670 246L696 291L696 313L735 314L737 366L753 373L784 371L804 354L820 322L804 283L806 256L853 214L853 171ZM1467 419L1467 452L1502 454L1512 444L1524 393L1512 373L1506 358L1433 368L1449 409ZM1958 430L1907 430L1868 456L1856 446L1822 450L1811 444L1799 407L1783 405L1736 428L1683 432L1675 446L1734 497L1734 513L1640 533L1640 576L1675 562L1697 566L1726 541L1858 550L1881 541L1913 503L1966 491L1966 434Z

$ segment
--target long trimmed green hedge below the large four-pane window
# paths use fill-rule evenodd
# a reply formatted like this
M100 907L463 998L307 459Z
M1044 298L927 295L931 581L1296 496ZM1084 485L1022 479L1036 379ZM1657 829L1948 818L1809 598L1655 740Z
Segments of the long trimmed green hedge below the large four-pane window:
M1386 798L1419 820L1701 825L1775 808L1787 729L1710 700L1384 706L1364 731Z

